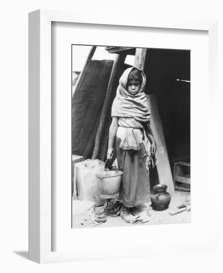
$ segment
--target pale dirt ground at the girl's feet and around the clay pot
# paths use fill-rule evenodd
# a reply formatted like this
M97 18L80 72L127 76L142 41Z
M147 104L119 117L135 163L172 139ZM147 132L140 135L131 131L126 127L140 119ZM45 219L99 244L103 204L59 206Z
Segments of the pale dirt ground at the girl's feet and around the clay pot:
M149 214L149 222L144 224L172 224L172 223L190 223L191 222L191 212L183 211L181 213L170 215L169 212L173 212L178 210L177 205L180 205L184 202L187 193L185 192L175 192L174 196L171 196L171 202L169 207L163 211L157 211L152 209L151 202L142 205L141 209L147 209ZM187 196L187 200L190 199L190 195ZM98 208L96 207L96 210ZM105 223L100 223L92 226L123 226L123 225L131 225L130 223L126 223L120 216L111 217L107 216L107 221ZM88 226L90 227L90 226ZM73 226L75 228L75 226Z

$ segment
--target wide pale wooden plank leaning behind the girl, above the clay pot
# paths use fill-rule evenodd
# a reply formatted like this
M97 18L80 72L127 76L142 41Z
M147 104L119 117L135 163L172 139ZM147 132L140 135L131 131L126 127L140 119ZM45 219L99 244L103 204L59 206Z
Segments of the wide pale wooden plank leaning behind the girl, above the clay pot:
M159 182L160 184L167 185L167 192L169 192L170 195L173 195L174 185L168 160L167 146L155 95L148 95L147 101L151 111L151 128L157 143L157 155L159 160L157 165L157 172Z

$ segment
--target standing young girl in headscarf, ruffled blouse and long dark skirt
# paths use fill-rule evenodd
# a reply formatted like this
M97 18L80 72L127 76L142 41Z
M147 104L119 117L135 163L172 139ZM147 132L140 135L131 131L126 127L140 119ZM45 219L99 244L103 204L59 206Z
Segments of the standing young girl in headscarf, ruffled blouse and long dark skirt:
M132 220L134 206L150 198L149 165L156 164L156 143L150 129L150 110L144 93L146 77L138 68L127 68L119 79L111 108L107 158L114 143L118 168L123 172L120 216ZM149 140L148 140L149 139Z

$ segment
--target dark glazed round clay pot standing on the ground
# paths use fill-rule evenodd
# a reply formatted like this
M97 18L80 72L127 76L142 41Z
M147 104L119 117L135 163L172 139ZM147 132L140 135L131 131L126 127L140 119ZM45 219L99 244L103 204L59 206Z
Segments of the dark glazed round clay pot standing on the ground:
M151 195L152 206L155 210L167 209L171 196L167 193L167 185L158 184L153 187L155 194Z

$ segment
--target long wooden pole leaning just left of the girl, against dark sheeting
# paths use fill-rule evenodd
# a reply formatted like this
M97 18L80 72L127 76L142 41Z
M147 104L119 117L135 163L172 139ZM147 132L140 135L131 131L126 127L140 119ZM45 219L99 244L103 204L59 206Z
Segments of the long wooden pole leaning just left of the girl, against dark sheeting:
M102 137L103 129L105 127L105 123L106 123L108 108L111 103L111 94L112 94L112 92L114 92L116 90L116 87L117 87L115 85L116 77L119 74L118 72L120 71L120 68L124 63L125 58L126 58L125 54L118 54L115 56L115 59L114 59L113 67L111 70L111 76L110 76L110 80L109 80L109 85L108 85L108 89L107 89L107 93L106 93L106 98L105 98L105 102L103 105L101 119L100 119L98 131L97 131L97 135L96 135L96 139L95 139L95 147L94 147L92 159L96 159L98 156L101 137Z

